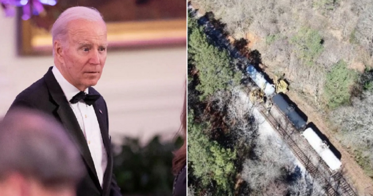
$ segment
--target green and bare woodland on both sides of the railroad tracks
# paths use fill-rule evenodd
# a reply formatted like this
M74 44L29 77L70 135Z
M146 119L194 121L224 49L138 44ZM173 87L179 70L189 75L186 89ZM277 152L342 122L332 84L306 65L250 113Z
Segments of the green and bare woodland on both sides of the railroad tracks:
M291 96L313 108L328 136L373 178L372 1L191 4L270 77L285 74ZM252 108L238 95L245 86L245 75L237 69L242 62L188 14L189 193L315 195L318 187L296 178L291 157L276 153L266 146L271 138L258 134ZM263 178L250 181L253 176Z

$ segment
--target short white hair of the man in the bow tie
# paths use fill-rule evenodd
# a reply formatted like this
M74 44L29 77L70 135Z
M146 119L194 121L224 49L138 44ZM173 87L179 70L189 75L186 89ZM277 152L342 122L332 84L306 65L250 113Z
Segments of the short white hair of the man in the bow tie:
M102 21L105 24L101 13L98 12L98 10L94 7L70 7L66 9L64 12L62 12L61 15L57 18L56 22L54 22L53 24L53 27L51 29L53 44L55 40L65 41L67 39L67 26L69 22L78 19L83 19L87 21Z

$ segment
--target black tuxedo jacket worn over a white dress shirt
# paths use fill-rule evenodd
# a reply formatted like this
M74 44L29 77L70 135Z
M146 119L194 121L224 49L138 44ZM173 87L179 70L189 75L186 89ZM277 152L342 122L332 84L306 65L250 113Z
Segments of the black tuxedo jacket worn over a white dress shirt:
M99 94L94 88L89 87L90 94ZM81 153L82 159L87 169L86 176L78 184L77 196L121 196L120 189L117 186L113 176L113 155L111 140L109 137L109 119L107 116L106 102L100 97L93 108L100 125L102 140L107 152L107 167L103 178L103 188L100 186L93 159L85 140L84 134L79 123L66 100L62 88L53 75L52 67L43 78L23 90L10 109L16 106L38 109L49 115L53 115L65 127L70 138L75 142L77 149ZM9 109L9 110L10 110Z

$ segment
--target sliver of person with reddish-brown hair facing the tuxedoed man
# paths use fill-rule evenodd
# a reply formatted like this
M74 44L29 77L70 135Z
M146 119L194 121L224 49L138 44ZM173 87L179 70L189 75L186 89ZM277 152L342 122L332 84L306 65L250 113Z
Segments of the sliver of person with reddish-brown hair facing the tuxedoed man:
M173 196L186 196L186 88L184 105L181 112L181 130L184 144L176 150L172 160L172 171L175 175L173 183Z

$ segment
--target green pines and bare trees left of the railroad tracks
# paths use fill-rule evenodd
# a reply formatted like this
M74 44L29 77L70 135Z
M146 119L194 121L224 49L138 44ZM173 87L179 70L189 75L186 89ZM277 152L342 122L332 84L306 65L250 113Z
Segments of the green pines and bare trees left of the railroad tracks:
M235 60L188 24L188 195L317 195L285 144L258 135Z

